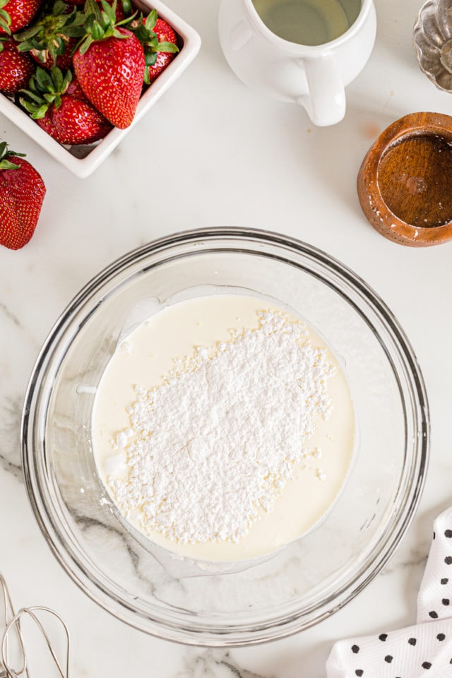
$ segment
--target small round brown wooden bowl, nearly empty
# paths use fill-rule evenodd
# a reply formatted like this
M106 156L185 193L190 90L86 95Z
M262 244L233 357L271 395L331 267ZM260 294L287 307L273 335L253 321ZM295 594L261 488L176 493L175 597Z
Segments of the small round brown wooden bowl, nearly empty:
M452 239L452 117L411 113L388 126L362 161L357 189L384 237L412 247Z

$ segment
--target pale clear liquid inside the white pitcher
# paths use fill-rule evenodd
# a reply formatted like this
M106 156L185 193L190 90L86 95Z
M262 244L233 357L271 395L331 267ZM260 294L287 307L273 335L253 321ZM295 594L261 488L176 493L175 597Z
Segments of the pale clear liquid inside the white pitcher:
M335 40L355 23L361 0L253 0L275 35L313 46Z

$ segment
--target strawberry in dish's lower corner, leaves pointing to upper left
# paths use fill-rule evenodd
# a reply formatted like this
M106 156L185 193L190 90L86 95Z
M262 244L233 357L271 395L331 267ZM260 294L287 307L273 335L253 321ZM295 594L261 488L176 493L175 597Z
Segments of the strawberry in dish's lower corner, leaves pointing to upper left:
M72 73L63 76L57 66L47 72L37 68L20 104L37 124L59 143L93 143L102 139L112 125L86 99Z

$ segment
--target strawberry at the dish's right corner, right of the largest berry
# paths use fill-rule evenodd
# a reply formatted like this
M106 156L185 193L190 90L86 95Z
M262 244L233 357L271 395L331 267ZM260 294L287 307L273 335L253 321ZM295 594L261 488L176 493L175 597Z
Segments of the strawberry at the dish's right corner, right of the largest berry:
M155 9L143 18L143 25L133 32L143 45L146 60L144 81L149 85L179 52L177 35L169 23L157 18Z

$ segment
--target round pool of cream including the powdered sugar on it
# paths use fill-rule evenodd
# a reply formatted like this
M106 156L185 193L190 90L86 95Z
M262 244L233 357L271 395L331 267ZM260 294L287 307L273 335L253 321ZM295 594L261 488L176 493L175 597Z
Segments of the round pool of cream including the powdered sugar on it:
M95 460L119 512L195 559L253 559L307 533L354 443L338 360L258 297L163 307L121 340L95 398Z

